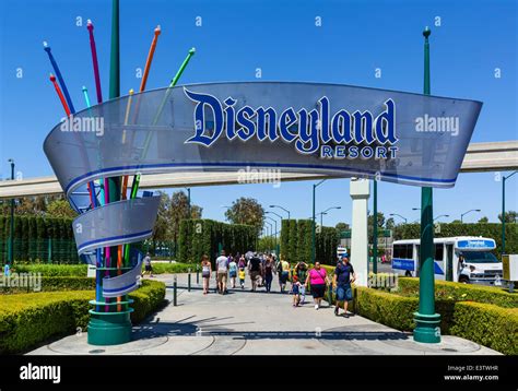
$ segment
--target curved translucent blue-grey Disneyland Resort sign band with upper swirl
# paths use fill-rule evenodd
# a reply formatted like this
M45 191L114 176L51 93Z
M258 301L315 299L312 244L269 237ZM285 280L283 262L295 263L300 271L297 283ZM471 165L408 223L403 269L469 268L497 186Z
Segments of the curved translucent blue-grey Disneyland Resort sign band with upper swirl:
M246 167L448 188L481 106L334 84L196 84L80 111L44 149L69 198L107 177ZM150 237L157 205L144 197L81 214L79 252Z

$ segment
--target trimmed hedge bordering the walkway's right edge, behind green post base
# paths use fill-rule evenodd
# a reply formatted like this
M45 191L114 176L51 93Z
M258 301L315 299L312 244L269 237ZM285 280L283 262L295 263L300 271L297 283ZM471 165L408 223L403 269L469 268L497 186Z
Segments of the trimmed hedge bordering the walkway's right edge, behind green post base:
M413 331L419 298L355 286L351 310L401 331ZM508 355L518 354L518 308L436 300L443 334L457 335Z

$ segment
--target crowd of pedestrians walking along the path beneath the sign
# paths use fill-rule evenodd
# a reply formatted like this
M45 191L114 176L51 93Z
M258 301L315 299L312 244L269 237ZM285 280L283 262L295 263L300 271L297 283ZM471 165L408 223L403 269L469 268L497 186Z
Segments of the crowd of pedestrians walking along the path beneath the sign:
M203 295L209 294L210 281L212 277L212 265L208 256L201 260L201 270L203 277ZM349 261L346 254L342 256L337 263L332 281L329 279L326 269L320 262L309 269L309 265L303 261L297 262L293 271L290 263L282 257L280 260L274 254L264 254L248 251L245 254L226 254L224 250L215 260L216 291L221 295L228 293L227 280L231 287L236 288L237 281L242 289L245 288L245 279L248 272L251 282L251 291L256 292L258 287L264 287L266 292L271 292L273 275L279 275L279 286L281 293L287 292L286 286L291 275L292 305L298 307L305 304L306 288L310 288L314 298L315 309L321 307L321 301L326 296L328 287L331 285L335 292L334 315L340 316L340 308L348 315L348 304L352 300L351 284L356 280L354 268Z

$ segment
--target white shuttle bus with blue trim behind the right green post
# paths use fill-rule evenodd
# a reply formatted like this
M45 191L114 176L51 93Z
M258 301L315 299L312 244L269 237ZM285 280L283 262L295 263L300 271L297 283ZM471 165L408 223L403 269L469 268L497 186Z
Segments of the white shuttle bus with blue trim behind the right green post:
M435 279L494 285L502 280L502 261L492 250L495 240L476 236L434 238ZM396 240L392 270L399 275L419 275L420 239Z

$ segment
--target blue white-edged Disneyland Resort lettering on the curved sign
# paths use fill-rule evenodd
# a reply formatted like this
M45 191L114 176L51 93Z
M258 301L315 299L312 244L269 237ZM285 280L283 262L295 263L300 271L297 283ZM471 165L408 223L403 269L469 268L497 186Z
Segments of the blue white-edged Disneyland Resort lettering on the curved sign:
M384 102L385 108L377 116L361 108L353 114L340 108L331 115L331 102L327 96L318 99L316 108L310 110L303 107L295 111L287 107L279 115L273 107L239 107L232 96L222 103L210 94L187 88L184 92L196 103L195 134L186 143L211 146L222 135L242 141L256 138L259 142L281 139L294 143L302 154L320 151L321 158L393 158L398 151L392 146L398 137L396 103L390 98ZM212 122L209 129L207 123Z

